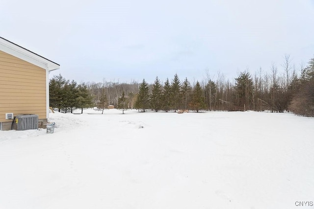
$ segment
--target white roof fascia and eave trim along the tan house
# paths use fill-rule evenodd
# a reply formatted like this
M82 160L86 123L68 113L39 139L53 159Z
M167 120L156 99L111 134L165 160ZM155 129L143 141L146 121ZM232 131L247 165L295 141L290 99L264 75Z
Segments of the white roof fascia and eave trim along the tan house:
M58 64L2 38L0 38L0 50L48 71L60 69Z

